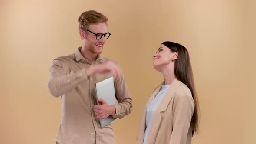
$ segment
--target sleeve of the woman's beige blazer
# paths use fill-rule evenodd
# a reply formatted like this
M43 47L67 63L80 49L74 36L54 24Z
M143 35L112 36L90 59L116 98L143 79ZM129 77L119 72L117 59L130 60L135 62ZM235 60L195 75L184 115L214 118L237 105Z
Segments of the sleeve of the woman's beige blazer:
M194 112L194 100L191 95L174 94L173 130L169 144L186 144L190 121Z

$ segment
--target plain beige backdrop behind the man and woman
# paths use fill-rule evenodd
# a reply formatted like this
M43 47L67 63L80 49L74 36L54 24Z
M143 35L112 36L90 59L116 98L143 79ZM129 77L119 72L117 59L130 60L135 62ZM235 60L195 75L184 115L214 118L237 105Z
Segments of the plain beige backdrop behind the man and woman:
M135 144L138 121L163 80L151 56L163 41L190 52L200 100L193 144L255 144L254 0L0 0L0 144L54 144L61 99L46 87L57 56L81 46L85 10L109 18L103 55L124 71L133 111L113 122L118 144Z

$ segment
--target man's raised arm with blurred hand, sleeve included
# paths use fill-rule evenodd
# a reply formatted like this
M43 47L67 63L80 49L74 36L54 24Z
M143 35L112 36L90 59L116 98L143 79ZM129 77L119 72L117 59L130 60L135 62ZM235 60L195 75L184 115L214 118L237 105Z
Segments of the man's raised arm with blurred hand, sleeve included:
M118 66L112 62L104 62L102 64L92 65L87 69L81 69L76 72L68 72L68 65L61 58L53 60L50 67L50 76L48 80L49 92L59 97L71 90L75 89L80 82L89 80L88 77L95 73L112 73L112 75L119 77L120 71Z

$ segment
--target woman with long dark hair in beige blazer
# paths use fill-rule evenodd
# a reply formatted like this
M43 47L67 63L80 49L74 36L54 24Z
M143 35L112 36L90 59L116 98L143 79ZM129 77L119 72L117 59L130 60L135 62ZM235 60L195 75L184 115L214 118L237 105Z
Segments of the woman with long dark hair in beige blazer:
M155 88L141 115L138 144L191 144L198 132L198 102L187 49L164 42L153 56L164 82Z

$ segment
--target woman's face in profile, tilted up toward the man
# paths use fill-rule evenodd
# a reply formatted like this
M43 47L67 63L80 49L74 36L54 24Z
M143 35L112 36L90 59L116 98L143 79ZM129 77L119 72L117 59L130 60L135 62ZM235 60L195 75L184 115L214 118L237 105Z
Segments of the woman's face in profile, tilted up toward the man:
M171 50L164 46L163 44L160 45L157 52L153 56L153 67L154 69L161 71L164 66L169 65L174 60L175 52L171 52Z

